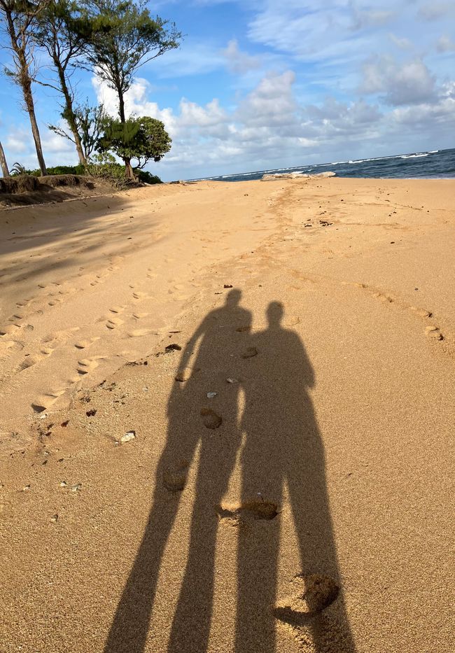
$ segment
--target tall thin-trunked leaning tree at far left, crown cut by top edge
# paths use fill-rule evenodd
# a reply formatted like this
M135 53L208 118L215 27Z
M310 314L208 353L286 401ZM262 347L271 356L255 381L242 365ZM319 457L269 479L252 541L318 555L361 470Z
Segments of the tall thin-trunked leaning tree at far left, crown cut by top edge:
M46 4L46 1L0 0L0 12L5 19L5 29L10 41L9 49L13 53L13 69L5 69L5 72L22 90L25 108L30 118L36 156L43 175L47 174L47 172L31 92L31 82L34 77L32 70L34 50L31 34L36 25L37 17Z

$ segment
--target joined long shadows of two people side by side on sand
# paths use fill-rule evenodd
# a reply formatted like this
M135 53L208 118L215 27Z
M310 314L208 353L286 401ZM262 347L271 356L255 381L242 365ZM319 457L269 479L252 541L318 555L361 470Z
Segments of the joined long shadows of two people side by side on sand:
M190 365L193 372L176 382L169 397L168 436L151 514L105 653L148 650L162 556L199 444L190 549L168 653L208 650L216 538L223 519L239 526L235 653L274 653L280 621L293 626L300 640L312 641L318 653L355 650L340 589L323 445L307 393L313 371L300 338L281 327L281 304L272 302L268 328L250 335L251 314L240 307L240 297L239 290L230 291L225 306L204 318L183 351L180 369ZM219 395L207 400L211 390ZM245 397L241 420L239 391ZM204 408L213 412L202 414ZM223 496L240 447L241 503L225 508ZM295 595L289 599L276 596L285 485L300 549Z

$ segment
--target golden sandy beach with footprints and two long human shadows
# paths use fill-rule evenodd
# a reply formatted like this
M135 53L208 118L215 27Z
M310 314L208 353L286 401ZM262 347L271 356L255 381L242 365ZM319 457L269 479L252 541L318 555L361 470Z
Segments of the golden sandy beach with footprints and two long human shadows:
M454 197L0 211L1 653L454 650Z

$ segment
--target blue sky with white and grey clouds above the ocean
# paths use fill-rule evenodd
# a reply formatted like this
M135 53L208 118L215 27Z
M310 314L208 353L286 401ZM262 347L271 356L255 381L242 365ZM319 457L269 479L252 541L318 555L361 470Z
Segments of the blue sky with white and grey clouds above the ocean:
M160 118L172 151L163 180L455 146L454 0L160 0L153 13L186 34L146 64L127 97ZM7 62L3 51L1 62ZM44 74L44 72L43 72ZM78 94L116 111L81 73ZM59 99L36 87L48 165L76 162L46 127ZM8 162L37 167L18 90L0 81Z

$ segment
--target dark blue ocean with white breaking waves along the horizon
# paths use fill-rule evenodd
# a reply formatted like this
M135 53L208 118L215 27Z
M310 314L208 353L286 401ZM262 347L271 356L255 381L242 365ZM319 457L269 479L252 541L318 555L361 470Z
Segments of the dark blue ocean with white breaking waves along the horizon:
M251 181L260 179L264 174L276 172L303 172L315 174L331 170L338 177L379 177L379 178L454 178L455 148L449 150L431 150L430 152L413 152L373 159L358 159L352 161L336 161L294 166L291 168L276 168L273 170L257 170L241 174L225 174L218 177L204 177L214 181Z

